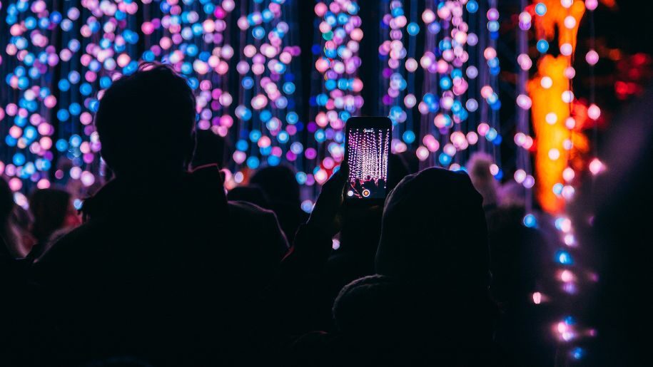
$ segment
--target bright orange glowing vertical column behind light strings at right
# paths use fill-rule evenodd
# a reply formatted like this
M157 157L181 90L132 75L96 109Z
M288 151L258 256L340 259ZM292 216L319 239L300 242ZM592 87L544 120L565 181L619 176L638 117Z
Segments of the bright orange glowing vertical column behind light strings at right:
M571 54L567 56L546 55L537 63L537 73L527 83L527 92L532 99L532 121L537 138L535 151L535 172L537 173L537 200L542 209L550 213L560 213L565 210L565 200L555 195L553 187L564 182L562 172L568 162L572 165L579 153L588 150L587 137L580 133L584 118L570 130L565 125L572 115L574 101L565 102L562 95L570 91L570 80L567 68L572 66L572 58L576 49L577 33L580 21L585 11L584 2L575 0L572 6L565 8L560 0L542 0L547 6L544 16L535 15L534 6L528 11L535 19L535 33L538 39L554 40L557 36L558 46L571 45ZM572 16L575 22L565 19ZM572 27L569 25L573 24ZM555 114L552 115L552 114ZM547 121L547 115L549 119ZM570 144L571 143L571 144ZM571 145L571 146L570 146Z

